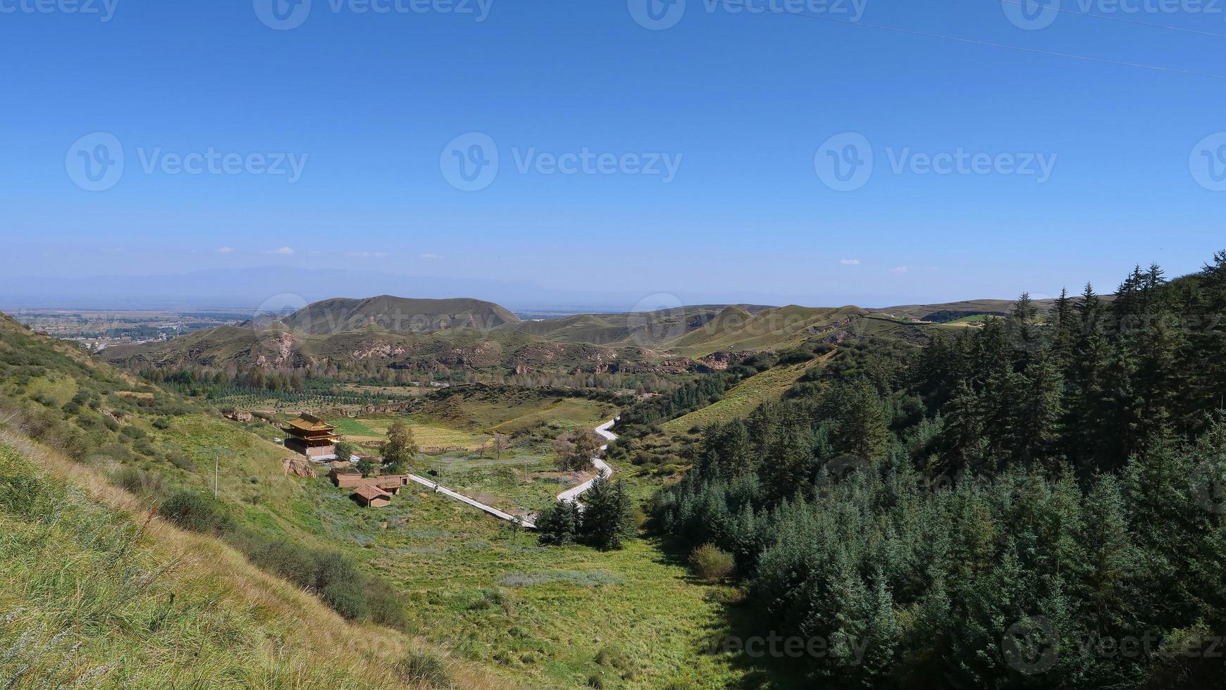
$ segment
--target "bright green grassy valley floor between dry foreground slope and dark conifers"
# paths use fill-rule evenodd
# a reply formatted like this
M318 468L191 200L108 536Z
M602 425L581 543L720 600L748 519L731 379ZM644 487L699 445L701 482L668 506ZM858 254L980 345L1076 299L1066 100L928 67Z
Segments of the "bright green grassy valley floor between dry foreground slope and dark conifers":
M434 494L405 501L407 522L371 531L371 561L409 592L409 613L432 640L538 688L736 686L729 659L701 653L723 630L722 586L649 540L622 552L544 548L527 533ZM617 659L601 663L600 652Z

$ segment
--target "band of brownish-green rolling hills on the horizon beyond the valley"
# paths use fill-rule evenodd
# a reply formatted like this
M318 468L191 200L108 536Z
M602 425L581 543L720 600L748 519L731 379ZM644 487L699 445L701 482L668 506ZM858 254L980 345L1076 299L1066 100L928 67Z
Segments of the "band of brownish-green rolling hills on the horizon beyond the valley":
M934 330L966 327L949 321L1004 313L1010 305L977 300L867 310L714 304L522 320L498 304L471 298L332 298L282 317L112 347L102 357L131 368L345 370L373 360L379 368L417 371L440 366L520 374L684 371L718 369L737 354L786 349L810 339L879 336L923 342Z

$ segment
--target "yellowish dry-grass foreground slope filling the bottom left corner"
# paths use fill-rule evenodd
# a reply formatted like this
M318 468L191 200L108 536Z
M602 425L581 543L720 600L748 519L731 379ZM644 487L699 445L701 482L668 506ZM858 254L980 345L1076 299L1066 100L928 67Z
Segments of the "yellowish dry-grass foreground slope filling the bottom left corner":
M419 643L347 624L221 542L150 517L93 472L4 434L0 681L407 686L395 664ZM452 674L495 686L483 673Z

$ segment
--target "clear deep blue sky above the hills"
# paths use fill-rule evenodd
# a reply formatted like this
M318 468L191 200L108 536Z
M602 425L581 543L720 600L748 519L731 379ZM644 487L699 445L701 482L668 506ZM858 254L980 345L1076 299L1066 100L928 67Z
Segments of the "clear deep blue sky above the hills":
M1194 164L1226 143L1206 140L1226 78L877 27L1195 72L1226 72L1226 38L1072 12L1027 31L999 0L772 4L834 21L687 0L660 31L634 18L647 0L313 0L284 31L262 0L44 1L0 0L9 276L276 266L479 279L493 299L530 281L884 305L1112 288L1226 245L1226 191ZM1063 6L1226 36L1226 7ZM87 191L72 148L96 132L124 168ZM447 147L471 132L499 163L463 191ZM873 172L831 189L823 147L845 132ZM584 152L588 172L552 170ZM192 153L242 162L180 172ZM986 172L926 164L960 153Z

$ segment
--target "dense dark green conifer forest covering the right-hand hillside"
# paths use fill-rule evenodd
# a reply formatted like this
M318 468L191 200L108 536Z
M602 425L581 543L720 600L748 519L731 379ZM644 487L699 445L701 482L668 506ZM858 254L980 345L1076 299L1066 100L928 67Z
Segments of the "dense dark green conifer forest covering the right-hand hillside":
M910 357L843 348L705 430L656 525L731 553L839 686L1226 681L1226 252Z

